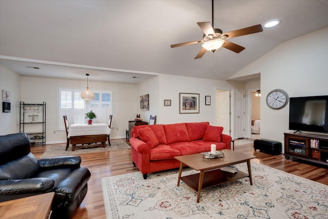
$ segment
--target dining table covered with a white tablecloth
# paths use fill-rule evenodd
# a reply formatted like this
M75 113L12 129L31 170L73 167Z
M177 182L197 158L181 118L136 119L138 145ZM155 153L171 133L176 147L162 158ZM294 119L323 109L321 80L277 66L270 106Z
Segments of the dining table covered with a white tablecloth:
M70 138L72 151L75 150L77 144L100 143L106 148L107 136L111 133L111 129L105 123L97 124L73 124L68 129L67 137Z

